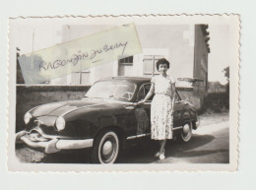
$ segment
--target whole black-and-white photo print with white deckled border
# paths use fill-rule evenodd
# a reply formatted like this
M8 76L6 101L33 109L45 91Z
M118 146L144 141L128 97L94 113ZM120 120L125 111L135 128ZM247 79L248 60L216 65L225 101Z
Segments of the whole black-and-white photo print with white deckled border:
M9 169L236 170L239 25L10 19Z

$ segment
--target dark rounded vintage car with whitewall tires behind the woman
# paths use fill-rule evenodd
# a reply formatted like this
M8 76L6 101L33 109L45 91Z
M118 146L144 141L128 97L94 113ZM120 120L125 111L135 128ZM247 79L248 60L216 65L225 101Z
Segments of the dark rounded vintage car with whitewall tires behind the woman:
M46 154L90 148L96 163L113 163L129 140L150 136L150 79L112 77L97 81L84 98L51 102L29 110L17 143ZM175 95L173 132L189 142L198 119L194 106Z

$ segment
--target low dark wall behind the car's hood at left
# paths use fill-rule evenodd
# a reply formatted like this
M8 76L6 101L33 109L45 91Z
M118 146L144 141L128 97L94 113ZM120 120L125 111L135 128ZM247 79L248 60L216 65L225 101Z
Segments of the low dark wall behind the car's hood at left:
M17 86L16 132L24 129L24 115L34 106L61 100L80 99L88 86Z

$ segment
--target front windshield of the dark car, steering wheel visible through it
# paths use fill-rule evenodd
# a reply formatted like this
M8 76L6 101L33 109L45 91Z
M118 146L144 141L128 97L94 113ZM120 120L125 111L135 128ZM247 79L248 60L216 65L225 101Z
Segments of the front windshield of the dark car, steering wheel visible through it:
M111 98L131 100L136 89L135 84L120 81L101 81L91 87L85 95L90 98Z

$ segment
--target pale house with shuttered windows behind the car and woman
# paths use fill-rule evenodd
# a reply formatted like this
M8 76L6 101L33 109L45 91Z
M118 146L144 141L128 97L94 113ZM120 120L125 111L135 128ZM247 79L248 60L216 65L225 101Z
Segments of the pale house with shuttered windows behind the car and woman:
M62 42L113 28L106 25L66 25ZM136 25L142 53L104 63L85 71L54 79L47 84L91 86L97 80L113 76L149 77L158 75L156 62L170 61L169 75L186 99L201 108L208 90L208 25Z

